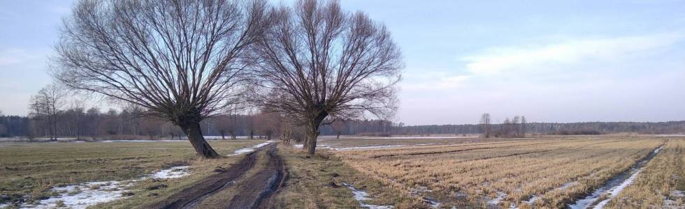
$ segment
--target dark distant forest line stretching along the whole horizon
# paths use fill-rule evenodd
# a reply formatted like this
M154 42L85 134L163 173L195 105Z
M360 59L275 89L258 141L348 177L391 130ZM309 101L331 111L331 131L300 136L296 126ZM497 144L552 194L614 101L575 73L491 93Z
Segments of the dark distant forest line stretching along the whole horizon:
M51 118L45 116L0 116L0 137L79 139L175 139L183 132L175 125L147 117L137 117L139 110L100 111L68 109L58 111ZM292 137L303 137L301 129L280 123L273 114L223 115L203 121L206 136L279 137L289 132ZM335 122L321 128L322 135L427 135L427 134L482 134L482 124L472 125L403 125L382 120L353 120ZM491 124L493 132L521 130L524 134L611 134L635 132L640 134L682 134L685 121L658 123L589 122L589 123L513 123ZM287 130L287 131L286 131ZM496 135L496 134L495 134ZM501 134L500 137L507 137Z

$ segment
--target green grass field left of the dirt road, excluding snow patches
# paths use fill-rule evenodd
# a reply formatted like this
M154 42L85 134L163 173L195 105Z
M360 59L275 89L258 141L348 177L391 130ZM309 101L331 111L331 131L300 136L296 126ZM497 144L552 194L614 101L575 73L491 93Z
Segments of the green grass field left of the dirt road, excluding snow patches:
M221 155L261 141L210 141ZM91 181L129 180L178 165L192 165L192 175L181 179L143 180L131 189L128 206L136 200L163 197L212 172L228 160L199 160L187 142L22 143L0 146L0 203L35 202L55 196L52 187ZM164 188L146 189L154 185ZM145 190L150 190L145 192ZM151 191L156 190L156 191ZM153 194L154 193L154 194ZM117 203L108 204L115 207ZM122 208L129 208L122 206Z

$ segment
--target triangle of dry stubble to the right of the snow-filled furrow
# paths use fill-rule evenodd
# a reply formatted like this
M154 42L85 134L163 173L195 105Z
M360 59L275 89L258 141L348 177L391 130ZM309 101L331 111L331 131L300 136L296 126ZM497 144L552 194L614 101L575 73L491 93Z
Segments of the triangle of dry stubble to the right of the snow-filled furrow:
M685 208L685 139L671 139L647 164L632 185L623 189L607 208ZM670 203L665 203L665 199Z

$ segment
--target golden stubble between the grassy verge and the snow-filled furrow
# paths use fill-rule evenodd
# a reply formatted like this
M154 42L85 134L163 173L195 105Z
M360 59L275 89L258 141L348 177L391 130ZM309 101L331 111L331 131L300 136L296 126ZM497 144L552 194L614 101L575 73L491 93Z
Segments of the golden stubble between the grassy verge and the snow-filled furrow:
M340 153L355 169L401 189L419 187L443 206L486 206L506 194L498 206L515 203L529 208L560 208L575 196L591 191L628 169L663 144L661 139L534 139L417 146ZM557 189L571 183L565 189ZM466 195L464 195L466 194Z

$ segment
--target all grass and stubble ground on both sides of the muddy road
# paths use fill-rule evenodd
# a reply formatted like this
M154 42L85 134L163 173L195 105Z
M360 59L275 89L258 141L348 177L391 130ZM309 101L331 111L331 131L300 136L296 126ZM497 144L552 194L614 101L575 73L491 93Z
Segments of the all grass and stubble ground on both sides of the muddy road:
M261 142L210 144L221 155L229 155ZM338 150L322 148L308 156L301 149L279 146L288 176L273 199L274 206L429 208L433 201L439 208L563 208L660 147L633 184L609 199L606 208L682 208L685 201L683 137L355 138L324 139L319 144ZM264 155L260 153L259 159ZM59 196L53 187L118 180L127 183L119 188L126 189L127 197L96 208L137 208L193 185L217 167L231 167L240 157L199 160L185 141L3 143L0 204L38 203ZM190 166L188 176L145 178L184 165ZM262 166L255 165L246 175ZM368 192L368 200L355 200L359 191L353 194L352 186ZM226 189L202 205L211 208L212 203L226 201L222 196L236 192L240 191Z

